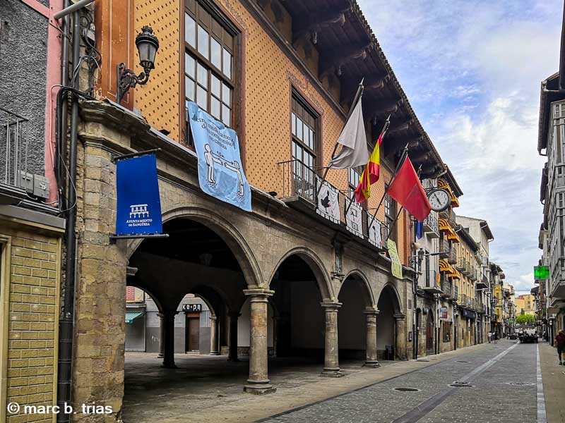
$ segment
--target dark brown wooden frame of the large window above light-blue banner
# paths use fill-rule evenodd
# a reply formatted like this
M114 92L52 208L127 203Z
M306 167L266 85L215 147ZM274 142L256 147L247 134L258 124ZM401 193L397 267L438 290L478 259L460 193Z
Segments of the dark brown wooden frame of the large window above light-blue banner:
M218 70L218 68L213 65L211 57L210 59L206 59L199 51L198 51L198 42L196 42L196 47L191 46L188 42L185 41L185 13L189 13L191 18L196 21L196 34L198 34L198 19L194 16L193 11L189 8L189 3L194 2L198 7L203 8L207 13L210 14L211 18L218 21L220 26L229 32L230 35L233 37L233 48L232 48L232 79L228 79L223 73L222 70ZM244 87L243 87L243 80L244 80L244 33L243 30L234 24L234 21L230 18L230 14L223 6L216 4L213 0L184 0L182 2L182 7L180 8L180 21L181 21L181 31L179 34L179 80L180 80L180 96L179 96L179 109L181 113L179 113L179 122L180 122L180 138L184 145L187 145L189 148L194 150L193 142L191 142L191 135L190 135L190 126L186 121L186 95L185 95L185 53L189 53L193 59L197 62L200 62L206 68L208 68L208 96L207 96L207 103L208 108L210 107L210 97L211 94L211 77L210 75L214 73L220 79L221 82L226 82L226 84L231 88L231 114L230 114L230 128L235 130L238 134L239 138L239 149L242 156L242 165L245 168L245 154L244 154ZM198 35L197 35L198 37ZM213 35L213 31L210 28L209 31L209 39L208 39L208 49L210 49L211 39L217 38L217 36ZM198 39L198 38L197 38ZM221 51L222 51L222 60L223 60L223 48L225 44L222 42ZM196 91L195 91L196 92ZM221 104L221 99L220 99ZM208 110L206 110L208 112ZM221 112L220 112L221 115ZM220 118L221 121L221 118Z

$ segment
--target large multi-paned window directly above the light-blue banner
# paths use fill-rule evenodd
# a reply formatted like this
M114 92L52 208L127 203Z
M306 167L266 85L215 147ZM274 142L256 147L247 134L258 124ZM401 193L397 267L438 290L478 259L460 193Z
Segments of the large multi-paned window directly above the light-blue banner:
M184 8L184 101L185 133L189 120L186 104L198 106L232 127L235 87L234 47L237 32L225 18L197 0Z

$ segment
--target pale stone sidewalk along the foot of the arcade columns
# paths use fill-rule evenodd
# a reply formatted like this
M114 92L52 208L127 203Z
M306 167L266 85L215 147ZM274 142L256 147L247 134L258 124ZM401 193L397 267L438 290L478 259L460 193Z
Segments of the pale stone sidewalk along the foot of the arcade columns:
M232 381L231 384L227 384L229 386L227 391L220 388L217 393L212 394L207 390L206 399L203 396L195 396L194 393L182 395L177 389L177 394L181 395L176 398L156 395L153 401L147 403L140 398L139 393L134 394L132 392L133 395L130 398L137 398L136 400L131 398L133 401L129 400L124 403L124 423L153 422L156 419L161 423L254 422L296 407L316 403L364 386L424 369L432 364L460 357L473 351L487 350L487 348L492 347L488 343L474 345L441 355L420 357L426 361L393 362L378 369L367 369L366 367L348 369L344 365L346 376L342 378L326 379L317 376L317 374L310 374L311 377L308 377L307 383L299 384L293 383L292 379L283 380L283 374L280 377L275 374L271 379L273 385L277 386L278 391L267 396L250 396L243 393L243 384L237 383L239 381L236 383ZM150 382L149 379L146 380ZM202 379L203 385L201 388L206 389L206 381ZM217 386L219 387L219 385ZM139 409L140 407L145 409L148 406L150 410L142 411Z

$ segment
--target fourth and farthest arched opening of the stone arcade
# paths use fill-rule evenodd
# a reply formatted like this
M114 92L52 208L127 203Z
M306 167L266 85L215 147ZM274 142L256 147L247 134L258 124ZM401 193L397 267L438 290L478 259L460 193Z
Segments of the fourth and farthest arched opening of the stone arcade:
M396 336L398 316L402 315L402 308L400 297L393 285L389 283L384 286L376 307L379 309L376 324L377 354L382 360L394 360L403 345Z

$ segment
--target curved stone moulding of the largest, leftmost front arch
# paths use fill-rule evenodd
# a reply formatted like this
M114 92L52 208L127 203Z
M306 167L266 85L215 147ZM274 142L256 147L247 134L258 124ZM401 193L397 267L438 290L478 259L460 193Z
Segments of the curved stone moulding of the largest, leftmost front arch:
M182 218L203 224L224 240L237 259L249 288L262 288L264 286L261 268L254 253L251 251L251 247L245 240L244 235L230 221L227 221L225 217L218 213L196 205L174 207L162 213L163 223ZM129 240L126 245L126 257L128 259L137 250L142 241L143 239Z

